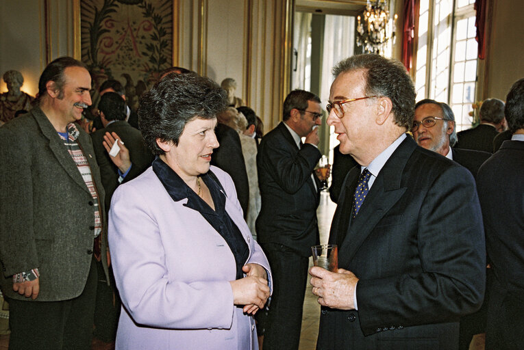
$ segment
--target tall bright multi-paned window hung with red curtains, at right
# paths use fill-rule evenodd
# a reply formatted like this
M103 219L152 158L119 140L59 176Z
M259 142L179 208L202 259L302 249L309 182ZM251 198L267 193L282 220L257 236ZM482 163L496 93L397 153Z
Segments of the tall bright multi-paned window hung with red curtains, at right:
M455 3L455 7L453 7ZM477 81L475 0L421 0L416 51L416 99L448 103L457 131L469 129Z

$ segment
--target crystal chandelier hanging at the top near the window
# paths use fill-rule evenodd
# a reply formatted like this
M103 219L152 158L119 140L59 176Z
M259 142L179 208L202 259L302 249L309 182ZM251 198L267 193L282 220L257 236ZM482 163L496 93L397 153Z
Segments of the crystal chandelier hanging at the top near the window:
M357 17L357 45L363 47L364 53L384 55L388 40L395 39L395 23L393 23L392 34L388 33L389 11L386 0L367 0L362 16L362 22L360 16Z

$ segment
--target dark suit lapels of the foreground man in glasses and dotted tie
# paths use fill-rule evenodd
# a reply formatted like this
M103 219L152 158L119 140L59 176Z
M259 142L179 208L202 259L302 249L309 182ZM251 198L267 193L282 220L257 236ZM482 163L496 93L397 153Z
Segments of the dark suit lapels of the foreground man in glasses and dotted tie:
M416 144L413 139L406 137L380 170L358 211L357 217L351 220L351 224L347 228L345 239L339 247L339 267L347 268L349 266L351 258L358 251L360 245L406 192L406 187L401 187L403 169L415 148ZM353 174L353 176L355 175ZM353 191L345 193L344 204L350 207L348 212L350 216L351 206L353 205L352 197L357 180L358 177L355 180L355 185L353 185ZM342 226L339 227L344 230Z

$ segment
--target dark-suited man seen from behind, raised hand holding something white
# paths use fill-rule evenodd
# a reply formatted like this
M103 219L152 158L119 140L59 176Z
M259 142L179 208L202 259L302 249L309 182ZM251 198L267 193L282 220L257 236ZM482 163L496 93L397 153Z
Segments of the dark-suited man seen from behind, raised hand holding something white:
M109 212L111 198L116 187L120 183L132 180L142 174L153 161L153 154L146 148L140 131L125 121L125 107L125 100L119 94L105 92L98 104L99 116L104 127L91 134L97 163L100 167L102 185L105 190L106 213ZM108 150L110 150L110 145L114 144L112 142L114 139L119 140L118 143L121 148L126 148L126 157L121 154L110 156ZM123 161L118 163L116 159ZM119 166L114 163L115 161ZM101 271L100 263L98 263L98 267ZM93 334L103 342L112 342L116 338L116 325L118 324L121 304L114 286L114 277L110 269L110 283L99 279L95 308L95 330Z

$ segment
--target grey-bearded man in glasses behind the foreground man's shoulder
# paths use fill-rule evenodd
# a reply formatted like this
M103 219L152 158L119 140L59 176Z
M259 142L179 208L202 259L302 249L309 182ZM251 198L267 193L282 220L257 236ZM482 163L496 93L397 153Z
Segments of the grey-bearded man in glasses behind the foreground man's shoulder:
M469 170L474 178L477 176L480 165L491 157L491 153L488 152L451 148L457 142L455 115L446 103L429 98L416 103L411 132L419 146L456 161ZM486 271L487 273L489 271ZM459 349L469 349L473 336L486 332L486 311L487 303L484 298L480 310L460 319Z

